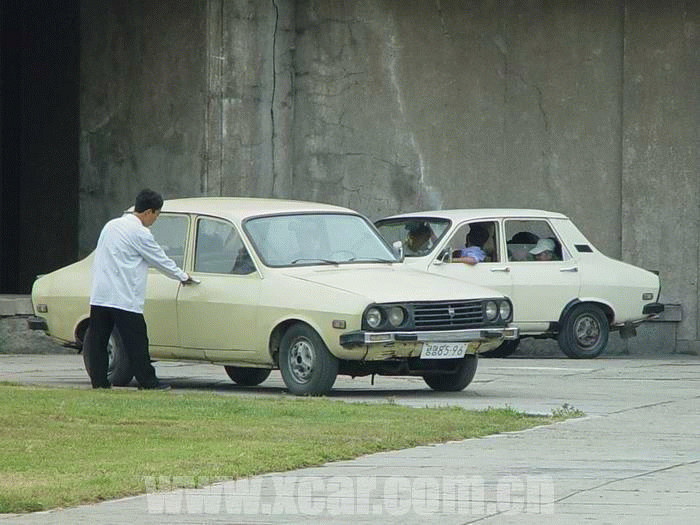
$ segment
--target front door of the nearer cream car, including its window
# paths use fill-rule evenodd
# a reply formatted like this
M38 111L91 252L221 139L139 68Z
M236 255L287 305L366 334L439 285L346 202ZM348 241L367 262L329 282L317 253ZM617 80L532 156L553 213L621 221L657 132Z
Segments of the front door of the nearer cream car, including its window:
M202 350L212 361L269 360L254 343L261 277L235 226L197 218L192 265L201 283L183 286L177 300L183 348Z

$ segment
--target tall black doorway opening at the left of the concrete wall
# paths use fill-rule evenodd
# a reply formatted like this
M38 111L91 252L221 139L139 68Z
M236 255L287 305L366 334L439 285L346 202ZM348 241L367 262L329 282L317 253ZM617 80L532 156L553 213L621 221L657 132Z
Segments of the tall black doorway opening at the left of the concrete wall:
M0 7L0 293L76 259L79 0Z

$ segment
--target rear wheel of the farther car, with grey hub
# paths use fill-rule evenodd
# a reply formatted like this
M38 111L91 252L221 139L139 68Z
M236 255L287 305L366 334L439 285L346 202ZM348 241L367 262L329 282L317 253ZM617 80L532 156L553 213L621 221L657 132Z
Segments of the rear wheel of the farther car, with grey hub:
M598 357L608 344L610 326L595 304L579 304L567 314L559 331L559 348L574 359Z

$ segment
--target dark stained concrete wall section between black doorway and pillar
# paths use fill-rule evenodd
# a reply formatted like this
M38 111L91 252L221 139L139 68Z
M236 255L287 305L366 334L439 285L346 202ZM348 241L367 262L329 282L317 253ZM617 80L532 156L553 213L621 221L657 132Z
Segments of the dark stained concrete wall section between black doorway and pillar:
M202 2L82 2L80 252L143 187L203 194Z

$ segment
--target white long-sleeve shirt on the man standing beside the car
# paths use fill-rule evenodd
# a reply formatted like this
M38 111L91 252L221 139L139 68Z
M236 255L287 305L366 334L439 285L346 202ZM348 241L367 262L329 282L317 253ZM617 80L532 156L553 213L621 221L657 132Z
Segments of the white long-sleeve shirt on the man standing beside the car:
M138 217L127 213L112 219L97 241L90 304L143 313L149 266L172 279L188 278Z

